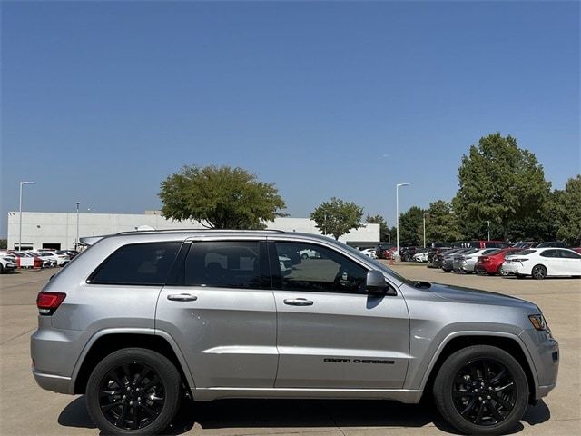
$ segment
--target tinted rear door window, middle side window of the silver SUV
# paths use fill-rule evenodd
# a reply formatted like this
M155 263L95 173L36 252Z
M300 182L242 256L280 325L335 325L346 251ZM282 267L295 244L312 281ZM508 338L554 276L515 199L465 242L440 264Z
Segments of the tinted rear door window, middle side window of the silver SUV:
M185 261L186 286L261 288L259 243L192 243Z

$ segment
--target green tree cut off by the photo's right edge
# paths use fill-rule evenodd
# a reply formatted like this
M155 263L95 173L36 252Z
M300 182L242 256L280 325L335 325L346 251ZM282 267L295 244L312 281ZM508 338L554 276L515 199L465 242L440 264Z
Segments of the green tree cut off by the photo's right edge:
M581 245L581 175L566 182L559 195L556 214L560 218L556 237L569 245Z

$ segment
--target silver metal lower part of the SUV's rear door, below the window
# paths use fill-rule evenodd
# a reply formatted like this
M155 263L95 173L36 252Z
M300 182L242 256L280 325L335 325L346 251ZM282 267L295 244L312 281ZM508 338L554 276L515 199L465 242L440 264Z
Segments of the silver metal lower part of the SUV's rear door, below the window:
M197 298L167 298L180 293ZM197 388L273 385L278 356L271 291L167 286L155 328L178 343Z

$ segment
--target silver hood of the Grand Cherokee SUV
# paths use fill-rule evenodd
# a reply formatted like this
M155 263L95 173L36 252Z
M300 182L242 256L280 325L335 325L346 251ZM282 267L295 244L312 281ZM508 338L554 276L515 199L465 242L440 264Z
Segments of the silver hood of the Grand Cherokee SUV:
M497 292L480 291L478 289L450 286L448 284L431 283L429 291L443 300L452 302L471 302L475 304L492 304L497 306L510 306L537 309L532 302L510 297Z

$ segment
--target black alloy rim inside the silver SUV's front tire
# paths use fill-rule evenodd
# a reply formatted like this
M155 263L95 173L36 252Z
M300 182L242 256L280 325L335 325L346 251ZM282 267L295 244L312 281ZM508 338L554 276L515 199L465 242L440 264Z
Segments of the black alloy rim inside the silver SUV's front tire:
M502 363L490 359L468 362L457 374L452 397L458 413L480 426L505 421L515 408L516 385Z

